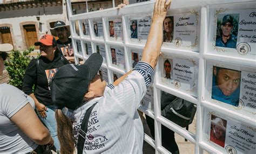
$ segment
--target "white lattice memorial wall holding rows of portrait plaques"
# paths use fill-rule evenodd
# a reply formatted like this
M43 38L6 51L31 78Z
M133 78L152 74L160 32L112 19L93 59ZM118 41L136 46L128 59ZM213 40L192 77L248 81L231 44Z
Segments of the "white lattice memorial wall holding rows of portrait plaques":
M68 1L76 63L98 52L108 83L130 71L142 58L153 5L72 15ZM166 17L173 22L172 37L164 39L153 83L139 108L155 124L156 140L145 135L145 141L156 153L166 153L162 124L193 143L194 153L256 153L256 2L173 0ZM161 91L196 104L195 134L161 116ZM212 137L217 120L222 141Z

